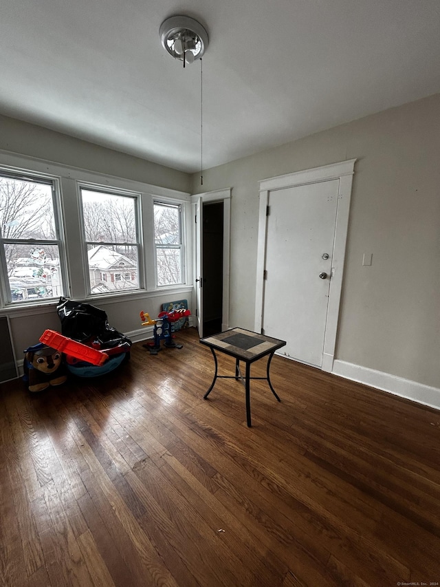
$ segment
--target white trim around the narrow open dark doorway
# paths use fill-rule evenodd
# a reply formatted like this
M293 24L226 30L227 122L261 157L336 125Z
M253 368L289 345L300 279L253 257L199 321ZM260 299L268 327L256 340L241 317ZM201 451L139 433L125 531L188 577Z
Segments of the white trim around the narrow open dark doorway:
M228 330L229 328L229 292L230 292L230 231L231 231L231 191L232 188L217 189L205 193L197 193L191 195L191 202L193 208L199 198L202 204L213 202L223 202L223 306L222 306L222 323L221 330ZM195 215L193 215L195 217ZM196 231L193 231L193 251L195 267L196 246L195 238ZM195 271L194 271L195 273ZM197 277L197 276L195 276ZM194 277L194 279L195 279ZM195 284L194 284L195 286ZM195 290L194 290L195 295Z

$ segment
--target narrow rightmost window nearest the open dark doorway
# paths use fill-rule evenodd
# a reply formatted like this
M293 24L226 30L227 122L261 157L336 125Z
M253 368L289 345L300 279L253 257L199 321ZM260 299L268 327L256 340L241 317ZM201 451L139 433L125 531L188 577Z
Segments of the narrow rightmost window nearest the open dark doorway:
M154 204L157 286L181 284L182 241L180 204Z

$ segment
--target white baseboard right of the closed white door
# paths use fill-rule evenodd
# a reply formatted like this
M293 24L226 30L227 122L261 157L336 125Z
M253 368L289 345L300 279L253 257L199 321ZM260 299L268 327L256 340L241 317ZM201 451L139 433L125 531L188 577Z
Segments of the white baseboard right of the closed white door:
M346 361L338 361L338 359L333 362L331 372L334 375L364 383L395 396L440 409L440 389L437 387L430 387L429 385L423 385L423 383L417 383L417 381L410 381L409 379L382 371L375 371L368 367L353 365L353 363L347 363Z

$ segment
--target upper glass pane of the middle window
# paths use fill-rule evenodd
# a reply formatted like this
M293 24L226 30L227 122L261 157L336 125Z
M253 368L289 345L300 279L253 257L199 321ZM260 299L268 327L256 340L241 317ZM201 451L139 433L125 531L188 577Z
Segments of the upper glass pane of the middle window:
M135 198L81 189L85 239L136 242Z

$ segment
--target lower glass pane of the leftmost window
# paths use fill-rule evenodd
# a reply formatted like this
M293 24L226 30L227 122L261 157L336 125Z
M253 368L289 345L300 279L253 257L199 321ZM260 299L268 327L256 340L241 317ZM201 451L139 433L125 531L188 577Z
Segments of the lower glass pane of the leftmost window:
M12 301L63 295L57 245L5 244L4 250Z

